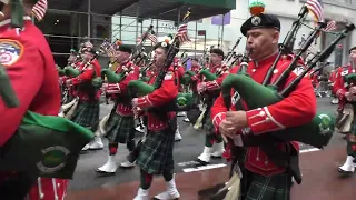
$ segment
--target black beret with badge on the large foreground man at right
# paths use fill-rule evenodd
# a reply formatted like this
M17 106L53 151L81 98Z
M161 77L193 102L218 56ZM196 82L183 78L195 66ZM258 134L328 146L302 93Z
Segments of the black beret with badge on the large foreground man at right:
M247 19L241 26L241 33L246 37L247 31L251 29L263 29L263 28L273 28L280 31L280 21L274 14L259 14L253 16Z

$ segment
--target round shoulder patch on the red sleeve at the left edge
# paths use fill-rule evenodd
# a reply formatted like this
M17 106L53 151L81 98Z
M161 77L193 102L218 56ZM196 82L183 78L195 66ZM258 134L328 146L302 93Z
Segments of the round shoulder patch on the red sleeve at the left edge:
M4 67L14 64L23 53L23 46L16 40L0 39L0 63Z

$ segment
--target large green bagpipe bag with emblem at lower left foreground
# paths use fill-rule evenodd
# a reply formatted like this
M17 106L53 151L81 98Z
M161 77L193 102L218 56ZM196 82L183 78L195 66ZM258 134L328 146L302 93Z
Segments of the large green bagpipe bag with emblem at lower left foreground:
M1 149L0 170L71 179L82 147L93 136L65 118L27 111L14 136Z

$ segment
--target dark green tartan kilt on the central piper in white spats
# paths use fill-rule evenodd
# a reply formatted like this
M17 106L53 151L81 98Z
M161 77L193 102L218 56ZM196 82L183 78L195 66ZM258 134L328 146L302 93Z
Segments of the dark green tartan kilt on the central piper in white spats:
M175 133L169 129L162 131L149 131L142 143L136 163L150 174L172 172Z

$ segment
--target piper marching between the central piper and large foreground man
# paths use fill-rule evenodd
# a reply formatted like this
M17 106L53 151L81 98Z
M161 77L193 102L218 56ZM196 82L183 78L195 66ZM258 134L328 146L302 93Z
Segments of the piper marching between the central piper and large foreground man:
M220 93L220 86L224 78L228 74L228 69L226 66L221 64L224 60L224 51L221 49L211 49L209 59L209 71L205 72L210 73L209 77L216 77L216 79L208 80L206 77L208 74L206 74L204 76L202 80L198 80L197 87L198 93L204 97L204 103L206 104L206 112L204 113L202 118L202 124L207 131L205 138L205 148L202 153L197 159L200 164L209 163L211 157L219 158L225 151L221 136L215 133L210 118L210 108Z

